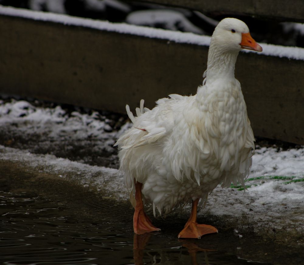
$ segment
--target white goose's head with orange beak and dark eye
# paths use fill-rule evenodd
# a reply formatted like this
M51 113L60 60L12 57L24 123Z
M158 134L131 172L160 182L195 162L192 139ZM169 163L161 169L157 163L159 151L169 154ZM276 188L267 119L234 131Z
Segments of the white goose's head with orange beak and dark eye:
M216 26L211 41L223 51L249 49L261 52L262 47L250 36L247 25L235 18L226 18Z

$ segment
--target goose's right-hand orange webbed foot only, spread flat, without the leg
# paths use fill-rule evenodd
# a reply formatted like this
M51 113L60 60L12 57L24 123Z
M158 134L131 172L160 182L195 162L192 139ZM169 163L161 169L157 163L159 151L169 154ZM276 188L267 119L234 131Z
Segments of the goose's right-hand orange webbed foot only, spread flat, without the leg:
M185 228L181 230L178 238L198 238L201 236L211 233L218 233L217 229L214 226L198 224L196 222L188 222L185 225Z

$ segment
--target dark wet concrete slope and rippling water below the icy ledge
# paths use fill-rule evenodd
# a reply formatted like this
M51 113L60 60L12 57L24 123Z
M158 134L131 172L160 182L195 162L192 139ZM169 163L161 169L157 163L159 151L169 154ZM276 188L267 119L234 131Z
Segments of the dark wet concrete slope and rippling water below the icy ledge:
M278 244L250 231L240 236L214 217L218 234L178 240L185 212L153 219L160 232L134 236L129 202L20 163L0 165L5 264L304 264L295 242Z

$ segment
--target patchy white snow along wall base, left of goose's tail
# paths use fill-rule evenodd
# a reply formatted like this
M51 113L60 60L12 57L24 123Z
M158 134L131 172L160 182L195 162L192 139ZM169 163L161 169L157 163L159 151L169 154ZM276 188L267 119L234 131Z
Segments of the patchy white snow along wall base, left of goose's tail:
M95 150L91 150L92 154L102 151L114 153L112 146L115 143L114 139L117 138L116 135L120 132L115 131L107 122L107 118L97 111L92 111L90 114L73 111L68 114L60 106L34 107L23 100L0 104L1 131L11 130L9 133L13 133L12 138L22 135L22 138L29 140L33 138L33 134L40 135L43 144L49 145L43 147L47 148L48 152L55 147L66 152L73 142L88 145L87 141L91 139L96 143L93 147ZM57 146L60 143L64 146ZM36 147L39 145L36 143Z

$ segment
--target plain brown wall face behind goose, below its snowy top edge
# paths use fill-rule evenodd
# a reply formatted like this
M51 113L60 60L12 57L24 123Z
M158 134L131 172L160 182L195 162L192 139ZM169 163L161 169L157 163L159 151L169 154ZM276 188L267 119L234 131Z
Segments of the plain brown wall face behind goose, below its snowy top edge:
M125 113L195 93L207 47L0 16L0 91ZM241 53L236 66L256 136L304 144L304 61Z

